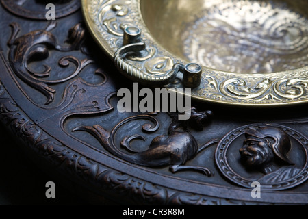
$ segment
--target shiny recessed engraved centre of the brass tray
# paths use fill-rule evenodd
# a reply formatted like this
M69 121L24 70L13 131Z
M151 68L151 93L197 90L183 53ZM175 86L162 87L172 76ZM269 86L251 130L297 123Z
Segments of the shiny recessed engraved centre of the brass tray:
M188 62L272 73L308 65L308 4L296 3L142 0L142 16L156 40Z

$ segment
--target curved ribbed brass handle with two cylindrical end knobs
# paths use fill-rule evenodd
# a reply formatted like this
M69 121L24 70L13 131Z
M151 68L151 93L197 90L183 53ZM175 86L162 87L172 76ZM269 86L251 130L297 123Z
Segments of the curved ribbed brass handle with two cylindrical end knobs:
M164 86L171 83L179 72L183 73L183 85L186 88L195 88L201 83L202 67L196 63L176 63L167 73L154 75L145 69L136 68L133 63L125 59L125 54L146 49L146 44L140 38L141 30L138 27L126 27L123 34L123 46L114 53L114 62L120 73L133 81L149 86Z

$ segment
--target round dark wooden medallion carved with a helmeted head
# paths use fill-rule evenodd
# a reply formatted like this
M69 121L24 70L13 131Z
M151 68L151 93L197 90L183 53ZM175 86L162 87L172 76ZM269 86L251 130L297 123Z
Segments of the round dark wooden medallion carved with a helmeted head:
M246 125L229 132L218 144L216 164L230 181L246 188L286 190L308 178L308 141L281 125Z

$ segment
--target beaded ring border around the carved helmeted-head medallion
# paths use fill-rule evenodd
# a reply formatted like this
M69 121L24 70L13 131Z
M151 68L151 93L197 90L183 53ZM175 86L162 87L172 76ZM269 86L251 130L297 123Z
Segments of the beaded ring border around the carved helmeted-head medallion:
M240 175L238 175L233 168L231 168L230 162L227 160L227 151L229 149L230 144L238 138L239 136L243 135L245 131L251 128L257 128L257 127L264 127L267 126L266 124L255 124L255 125L245 125L244 127L239 127L238 129L234 129L233 131L229 132L222 140L220 140L216 152L215 152L215 159L216 164L218 168L220 169L220 172L224 175L224 177L227 177L230 181L233 181L234 183L237 183L238 185L242 185L246 188L251 188L251 183L253 181L246 179ZM300 143L301 146L303 146L303 149L305 151L305 156L308 157L307 149L308 149L308 141L305 136L298 133L297 131L294 131L288 127L282 126L282 125L271 125L273 127L279 127L283 129L288 135L292 136L298 143ZM289 180L281 181L280 183L272 183L272 184L262 184L262 190L286 190L288 188L293 188L296 185L299 185L306 181L308 178L308 163L307 160L300 172L295 177L292 177Z

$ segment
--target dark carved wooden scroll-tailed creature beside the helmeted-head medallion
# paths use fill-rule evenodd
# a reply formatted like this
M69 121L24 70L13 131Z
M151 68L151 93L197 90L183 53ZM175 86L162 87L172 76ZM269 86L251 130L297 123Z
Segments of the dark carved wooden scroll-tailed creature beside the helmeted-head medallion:
M108 132L100 125L94 125L93 127L77 127L73 131L87 131L95 136L101 145L107 149L113 155L120 157L128 162L133 164L138 164L141 166L166 166L170 165L170 170L172 172L178 172L180 170L196 170L203 172L207 176L213 175L212 170L201 166L185 166L185 162L190 159L193 159L197 153L207 148L211 144L218 142L217 139L210 140L205 143L203 146L198 147L195 138L185 129L188 128L188 125L191 127L196 127L198 129L203 129L202 123L208 120L211 116L211 112L197 112L196 109L192 109L192 116L190 120L186 123L183 121L177 120L175 117L170 124L168 129L168 135L157 136L154 138L149 145L149 149L144 151L134 151L129 147L129 142L134 139L144 140L143 136L127 136L122 141L122 146L130 152L130 154L121 151L114 141L115 133L118 129L128 123L131 120L146 119L151 120L154 123L154 127L151 127L149 124L143 126L143 130L146 132L157 131L159 128L159 123L151 115L140 115L132 116L121 121ZM178 129L182 127L184 130L179 131Z

